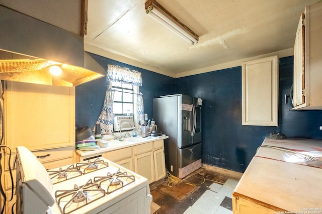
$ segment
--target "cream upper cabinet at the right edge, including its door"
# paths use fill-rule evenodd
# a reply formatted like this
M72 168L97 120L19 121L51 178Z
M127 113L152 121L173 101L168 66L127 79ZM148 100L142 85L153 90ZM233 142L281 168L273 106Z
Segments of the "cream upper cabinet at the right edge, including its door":
M322 109L322 2L305 8L294 44L294 109Z

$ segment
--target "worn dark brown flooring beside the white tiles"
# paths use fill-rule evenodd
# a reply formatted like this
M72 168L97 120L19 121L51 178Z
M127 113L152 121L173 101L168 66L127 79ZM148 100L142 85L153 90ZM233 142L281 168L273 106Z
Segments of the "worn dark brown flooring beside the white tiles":
M202 183L203 179L196 177L202 178L201 174L208 179L205 180L204 183ZM235 176L227 174L224 171L213 170L210 167L202 167L187 177L184 178L184 182L177 182L173 187L168 186L167 178L157 184L154 183L150 185L150 191L153 197L152 201L160 206L160 208L154 212L155 214L183 213L209 189L209 186L213 183L213 181L210 180L224 183L228 178ZM202 184L192 186L186 183Z

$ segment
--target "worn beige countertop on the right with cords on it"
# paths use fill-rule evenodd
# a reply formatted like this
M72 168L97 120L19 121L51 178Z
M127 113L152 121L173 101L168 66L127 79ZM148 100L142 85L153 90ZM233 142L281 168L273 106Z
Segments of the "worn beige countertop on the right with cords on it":
M322 147L322 141L266 138L262 145L316 151ZM305 162L286 162L281 151L261 147L235 187L233 195L246 196L277 211L304 213L301 211L305 208L322 208L321 181L321 168L310 166ZM312 211L322 213L322 209Z

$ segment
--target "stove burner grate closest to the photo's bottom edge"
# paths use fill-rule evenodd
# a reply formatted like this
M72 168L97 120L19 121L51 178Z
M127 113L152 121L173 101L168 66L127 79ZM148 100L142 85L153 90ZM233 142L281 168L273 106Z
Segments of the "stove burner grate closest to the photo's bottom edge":
M81 187L75 184L73 189L55 192L58 207L63 214L82 208L105 195L105 190L101 189L97 183L93 183L92 179Z

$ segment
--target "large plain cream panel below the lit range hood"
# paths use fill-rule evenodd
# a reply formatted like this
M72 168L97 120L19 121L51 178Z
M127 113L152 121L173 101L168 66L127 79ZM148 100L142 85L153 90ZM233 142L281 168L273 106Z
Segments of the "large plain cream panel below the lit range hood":
M75 145L75 87L6 83L7 146L40 150Z

